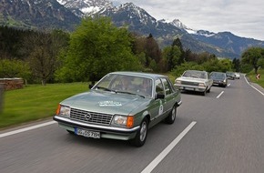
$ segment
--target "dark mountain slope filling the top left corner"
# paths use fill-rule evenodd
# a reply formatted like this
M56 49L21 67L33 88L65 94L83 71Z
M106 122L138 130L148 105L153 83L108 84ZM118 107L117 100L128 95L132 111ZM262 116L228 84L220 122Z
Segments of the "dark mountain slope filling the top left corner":
M56 0L1 0L0 25L73 30L80 18Z

